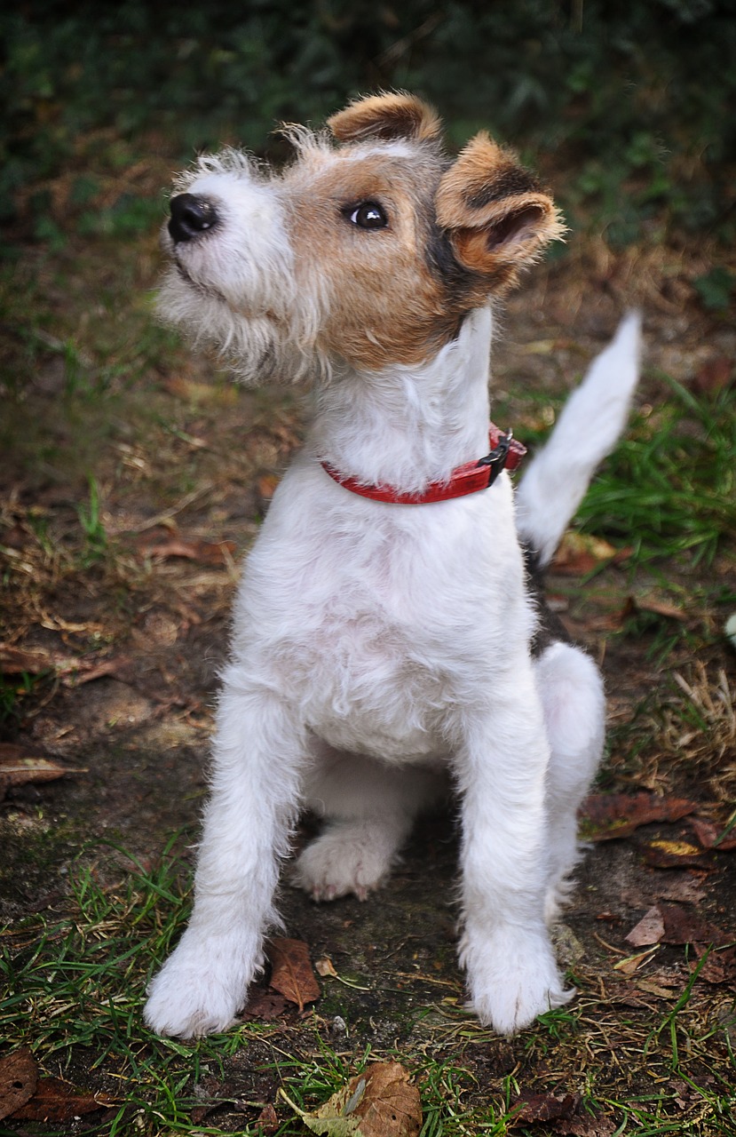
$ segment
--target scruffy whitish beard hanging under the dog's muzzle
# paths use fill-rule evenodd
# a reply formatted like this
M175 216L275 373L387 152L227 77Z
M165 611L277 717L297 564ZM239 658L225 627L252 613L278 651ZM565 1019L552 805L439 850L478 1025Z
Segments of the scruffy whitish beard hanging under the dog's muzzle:
M157 312L195 345L214 348L243 383L296 383L324 372L308 332L282 324L270 313L234 312L215 289L175 265L161 282Z

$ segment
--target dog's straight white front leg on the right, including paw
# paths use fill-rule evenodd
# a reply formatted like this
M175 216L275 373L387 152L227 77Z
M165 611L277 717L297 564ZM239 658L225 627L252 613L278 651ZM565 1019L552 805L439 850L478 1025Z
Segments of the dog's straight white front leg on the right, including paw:
M457 752L462 810L460 957L484 1024L513 1034L560 1006L563 990L544 921L549 747L528 661L493 704L467 713Z

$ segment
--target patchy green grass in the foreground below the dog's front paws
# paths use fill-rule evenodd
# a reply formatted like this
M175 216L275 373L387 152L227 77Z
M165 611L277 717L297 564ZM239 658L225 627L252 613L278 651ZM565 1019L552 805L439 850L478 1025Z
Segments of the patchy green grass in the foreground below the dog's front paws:
M111 871L119 874L127 855L117 847L98 848L97 860L91 853L85 850L74 866L68 896L55 913L19 920L2 936L2 1037L30 1046L43 1070L115 1099L102 1121L87 1117L75 1134L256 1135L256 1118L271 1101L276 1131L298 1135L304 1130L277 1097L278 1086L311 1110L378 1060L402 1061L412 1073L423 1097L421 1137L502 1137L512 1128L519 1094L535 1092L582 1095L580 1115L605 1119L607 1128L596 1132L734 1132L736 1056L729 1022L736 1023L736 1005L731 1001L726 1007L699 981L705 957L692 972L680 970L681 989L658 1016L652 1007L627 1007L616 985L605 989L613 973L604 961L588 964L578 980L588 993L597 987L600 996L588 994L542 1015L512 1044L508 1074L488 1074L484 1063L494 1054L497 1061L499 1053L508 1062L509 1044L484 1031L453 1001L445 1001L433 1022L415 1029L399 1051L379 1053L360 1038L336 1045L319 1004L301 1022L288 1015L250 1022L185 1045L145 1030L141 1004L152 969L182 929L189 869L172 843L158 868L145 871L128 857L125 877L103 883ZM114 864L106 861L111 855ZM254 1078L250 1094L243 1093L244 1054ZM261 1096L259 1078L269 1087ZM644 1086L660 1088L644 1093ZM206 1104L218 1109L203 1113ZM0 1132L12 1131L0 1123ZM42 1131L68 1137L64 1126ZM513 1132L540 1130L515 1126Z

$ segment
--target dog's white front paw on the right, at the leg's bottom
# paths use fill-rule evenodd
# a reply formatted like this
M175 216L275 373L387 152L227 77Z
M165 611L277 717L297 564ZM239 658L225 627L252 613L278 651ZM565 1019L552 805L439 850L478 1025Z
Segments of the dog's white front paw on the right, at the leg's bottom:
M562 986L554 955L543 936L496 933L483 952L465 948L470 1009L499 1035L515 1035L540 1014L563 1006L575 988Z

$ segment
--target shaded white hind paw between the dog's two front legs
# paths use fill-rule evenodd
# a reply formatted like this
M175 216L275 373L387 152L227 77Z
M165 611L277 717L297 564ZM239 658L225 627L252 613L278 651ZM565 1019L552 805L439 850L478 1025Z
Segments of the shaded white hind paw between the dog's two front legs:
M365 901L388 873L393 856L394 847L379 829L366 822L341 823L307 846L293 880L315 901L335 901L350 893Z

